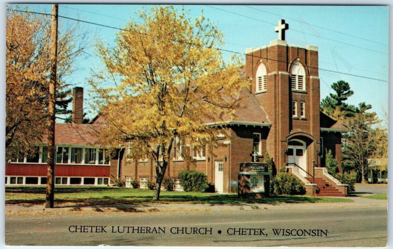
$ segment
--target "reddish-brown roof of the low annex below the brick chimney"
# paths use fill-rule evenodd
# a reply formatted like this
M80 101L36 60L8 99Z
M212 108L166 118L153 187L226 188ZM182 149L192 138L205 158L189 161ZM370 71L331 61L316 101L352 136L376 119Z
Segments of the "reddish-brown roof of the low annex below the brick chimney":
M87 124L56 124L55 144L56 145L94 145L98 142L94 133L100 129L100 125ZM43 143L47 143L48 134L42 138Z

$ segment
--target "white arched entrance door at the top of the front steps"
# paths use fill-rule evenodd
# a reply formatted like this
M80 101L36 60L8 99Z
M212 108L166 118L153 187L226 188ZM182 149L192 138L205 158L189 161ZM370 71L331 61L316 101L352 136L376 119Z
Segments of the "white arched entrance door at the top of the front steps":
M288 142L288 163L296 163L301 169L299 173L307 177L307 155L306 143L300 140L291 140ZM302 170L303 169L303 170Z

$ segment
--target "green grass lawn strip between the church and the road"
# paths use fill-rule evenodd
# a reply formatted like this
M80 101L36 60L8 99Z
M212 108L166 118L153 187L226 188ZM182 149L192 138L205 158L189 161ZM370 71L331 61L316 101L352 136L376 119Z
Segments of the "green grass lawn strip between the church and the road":
M121 207L142 206L153 203L153 190L117 187L56 187L56 205L79 205ZM214 194L199 192L162 191L158 203L208 203L244 205L250 203L313 203L313 202L351 202L351 199L309 196L273 196L263 199L240 199L236 194ZM43 204L45 187L6 187L6 204ZM157 203L157 202L155 202Z

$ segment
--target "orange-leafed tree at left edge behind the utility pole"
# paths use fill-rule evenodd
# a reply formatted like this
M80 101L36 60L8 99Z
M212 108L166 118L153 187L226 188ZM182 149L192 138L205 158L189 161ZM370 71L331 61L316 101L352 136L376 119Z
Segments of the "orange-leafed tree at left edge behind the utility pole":
M11 7L11 5L9 6ZM16 8L16 6L15 6ZM63 77L73 72L77 46L74 28L62 32L58 41L56 113L65 113L69 91ZM47 126L50 68L50 19L16 11L6 17L6 157L23 156L40 142Z

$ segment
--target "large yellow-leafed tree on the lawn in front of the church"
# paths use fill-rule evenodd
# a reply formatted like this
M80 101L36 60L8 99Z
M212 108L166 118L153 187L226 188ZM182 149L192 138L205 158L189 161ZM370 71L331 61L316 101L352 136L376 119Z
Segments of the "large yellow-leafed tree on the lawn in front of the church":
M192 21L183 9L159 6L140 18L118 33L114 48L98 45L106 71L91 84L108 122L102 143L118 147L129 140L135 158L154 160L158 200L173 141L214 142L219 131L206 123L231 117L245 80L239 61L225 63L215 49L223 34L203 13Z

